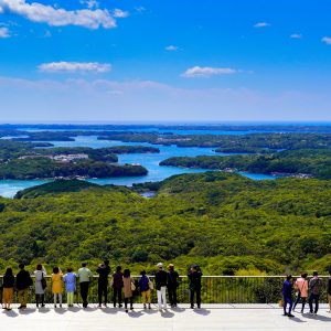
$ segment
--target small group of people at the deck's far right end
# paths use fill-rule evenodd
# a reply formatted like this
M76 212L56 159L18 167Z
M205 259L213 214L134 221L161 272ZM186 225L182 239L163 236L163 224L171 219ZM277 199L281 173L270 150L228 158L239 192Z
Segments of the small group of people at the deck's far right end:
M331 312L331 269L329 270L330 277L328 279L328 299ZM317 314L319 311L319 300L323 290L323 281L319 277L318 271L312 273L312 278L308 281L308 274L302 273L295 282L292 281L292 276L288 275L282 284L282 307L284 316L295 317L292 311L296 310L299 301L302 301L301 313L305 311L305 306L308 299L309 312L311 314ZM296 300L292 301L292 291L296 290ZM314 305L314 307L313 307ZM287 310L288 307L288 310Z

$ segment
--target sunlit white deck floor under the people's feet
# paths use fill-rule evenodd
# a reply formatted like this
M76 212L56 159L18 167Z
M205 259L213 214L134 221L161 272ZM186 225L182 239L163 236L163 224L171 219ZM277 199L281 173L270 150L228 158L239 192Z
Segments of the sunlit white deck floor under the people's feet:
M113 307L98 309L95 305L83 309L57 308L47 305L36 310L29 305L21 311L14 306L12 311L0 312L0 330L75 330L75 331L191 331L191 330L331 330L331 313L321 305L318 316L295 313L295 318L282 317L276 305L205 305L200 310L191 310L186 305L178 309L159 312L143 310L136 305L126 313Z

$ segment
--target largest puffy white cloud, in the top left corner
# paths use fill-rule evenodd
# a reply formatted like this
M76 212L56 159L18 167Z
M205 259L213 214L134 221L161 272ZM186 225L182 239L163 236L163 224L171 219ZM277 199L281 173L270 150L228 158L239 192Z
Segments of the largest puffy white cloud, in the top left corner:
M116 26L116 20L106 9L65 10L39 2L26 3L25 0L0 0L0 13L4 11L53 26L77 25L89 29Z

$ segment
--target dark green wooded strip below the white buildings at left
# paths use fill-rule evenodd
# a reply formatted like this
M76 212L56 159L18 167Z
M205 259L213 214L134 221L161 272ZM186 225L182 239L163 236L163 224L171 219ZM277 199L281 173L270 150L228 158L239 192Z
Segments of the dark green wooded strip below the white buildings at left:
M47 158L14 159L0 164L0 179L47 179L47 178L111 178L146 175L147 169L141 166L117 166L88 159L72 162L56 162Z

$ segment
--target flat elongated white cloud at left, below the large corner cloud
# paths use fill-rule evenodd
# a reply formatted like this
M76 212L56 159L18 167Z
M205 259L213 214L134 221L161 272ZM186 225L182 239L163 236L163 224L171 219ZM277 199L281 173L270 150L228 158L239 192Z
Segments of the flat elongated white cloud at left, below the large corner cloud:
M43 73L107 73L111 70L108 63L97 62L51 62L39 67Z

